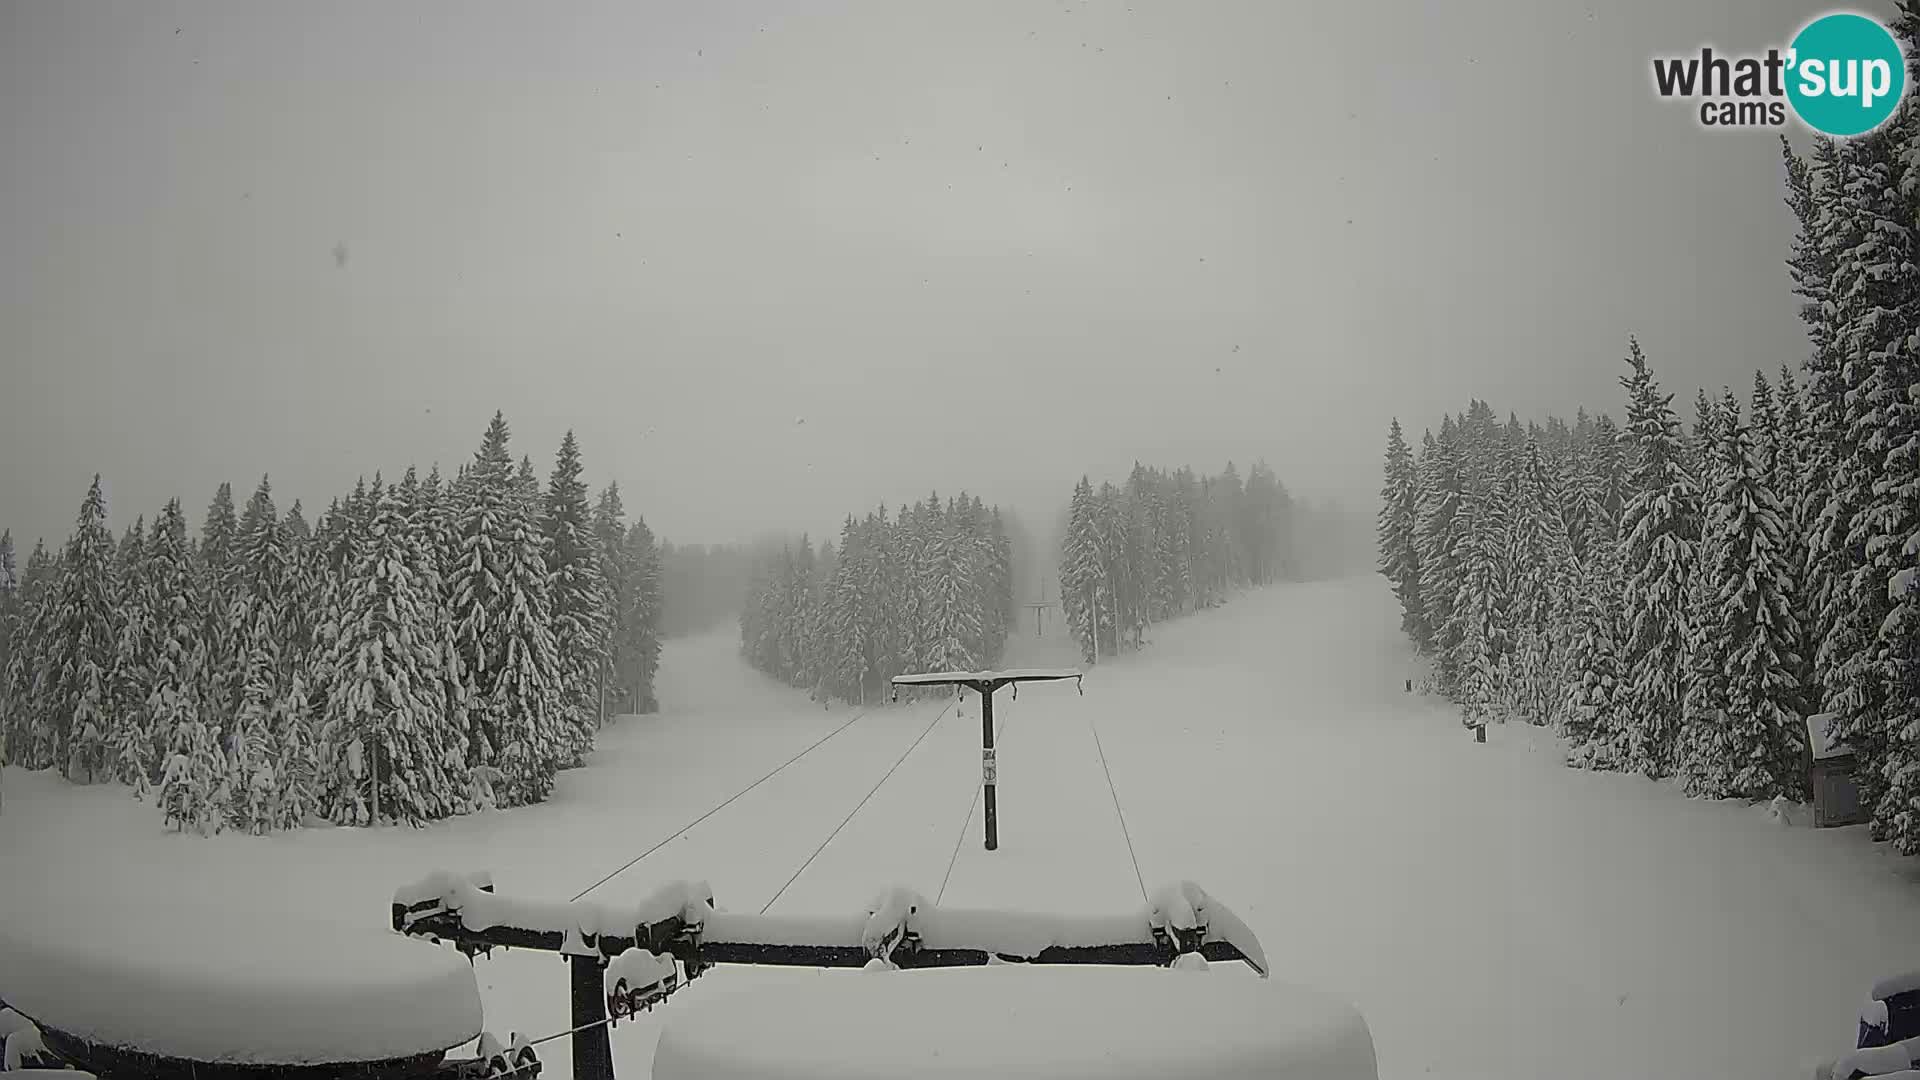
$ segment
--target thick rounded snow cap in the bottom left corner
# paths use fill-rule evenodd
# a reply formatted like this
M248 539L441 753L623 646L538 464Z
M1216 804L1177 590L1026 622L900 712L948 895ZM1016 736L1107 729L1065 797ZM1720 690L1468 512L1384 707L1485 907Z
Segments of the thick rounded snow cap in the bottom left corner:
M453 949L378 924L307 924L71 896L0 919L0 999L42 1028L161 1057L338 1065L438 1053L480 1034Z

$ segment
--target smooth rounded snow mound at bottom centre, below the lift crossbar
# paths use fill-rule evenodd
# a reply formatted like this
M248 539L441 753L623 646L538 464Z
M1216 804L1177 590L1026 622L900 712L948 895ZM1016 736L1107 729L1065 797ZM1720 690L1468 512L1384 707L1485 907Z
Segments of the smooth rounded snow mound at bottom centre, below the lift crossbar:
M1263 978L991 965L824 972L666 1015L653 1080L1377 1080L1359 1013Z

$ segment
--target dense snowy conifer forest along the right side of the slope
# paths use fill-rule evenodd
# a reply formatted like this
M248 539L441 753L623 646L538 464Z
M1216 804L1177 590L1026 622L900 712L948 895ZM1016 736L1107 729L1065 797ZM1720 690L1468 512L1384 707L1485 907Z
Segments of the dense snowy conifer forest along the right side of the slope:
M1920 853L1920 252L1914 111L1782 140L1809 352L1674 407L1626 342L1622 419L1484 400L1386 438L1380 573L1469 724L1713 799L1805 799L1859 757L1870 832Z

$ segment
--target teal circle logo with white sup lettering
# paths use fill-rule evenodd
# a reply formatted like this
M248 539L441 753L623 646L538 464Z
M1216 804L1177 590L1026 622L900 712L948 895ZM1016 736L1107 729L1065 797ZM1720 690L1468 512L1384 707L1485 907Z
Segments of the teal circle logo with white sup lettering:
M1793 37L1788 54L1788 102L1822 135L1864 135L1901 104L1907 58L1893 35L1841 12L1822 15Z

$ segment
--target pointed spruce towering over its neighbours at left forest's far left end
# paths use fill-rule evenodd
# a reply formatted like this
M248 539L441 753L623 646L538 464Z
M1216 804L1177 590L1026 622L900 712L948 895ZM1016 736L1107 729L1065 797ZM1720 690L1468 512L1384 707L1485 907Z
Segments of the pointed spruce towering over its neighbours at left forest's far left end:
M27 767L60 769L77 784L108 776L108 673L117 619L115 550L106 519L106 496L94 477L35 626L40 638L29 703L35 728L27 753L19 755Z

